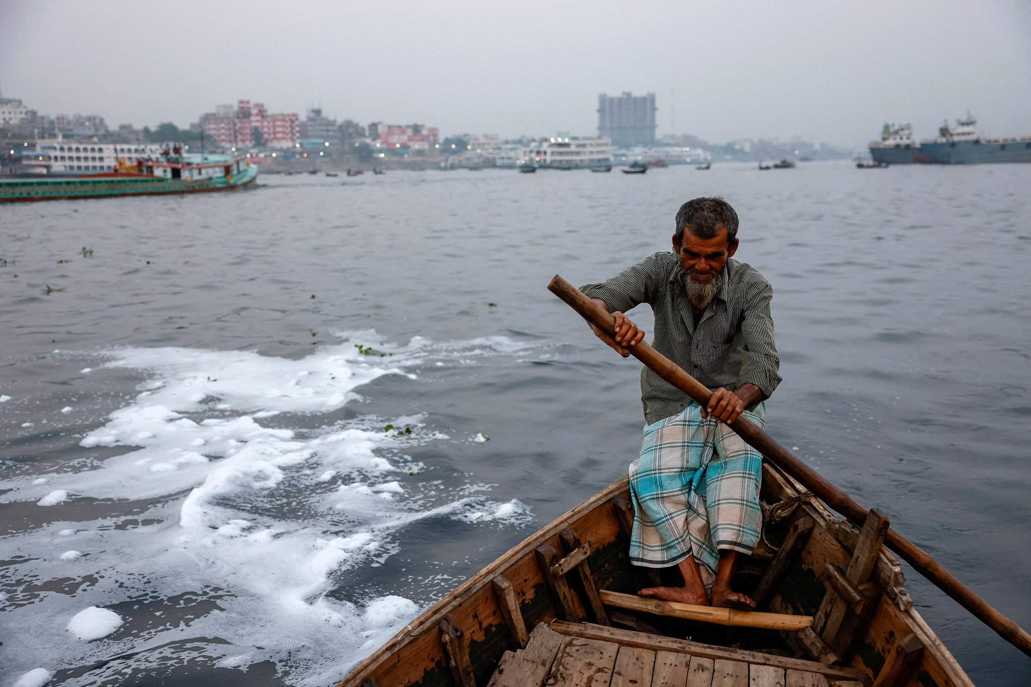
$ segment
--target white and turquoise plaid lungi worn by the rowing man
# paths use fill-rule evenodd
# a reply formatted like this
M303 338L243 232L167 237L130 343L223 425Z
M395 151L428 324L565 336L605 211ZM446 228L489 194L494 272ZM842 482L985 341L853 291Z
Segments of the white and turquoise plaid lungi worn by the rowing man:
M766 404L742 415L762 427ZM693 554L710 586L719 549L749 554L759 541L761 484L762 454L723 422L702 419L697 403L648 424L630 465L630 560L667 568Z

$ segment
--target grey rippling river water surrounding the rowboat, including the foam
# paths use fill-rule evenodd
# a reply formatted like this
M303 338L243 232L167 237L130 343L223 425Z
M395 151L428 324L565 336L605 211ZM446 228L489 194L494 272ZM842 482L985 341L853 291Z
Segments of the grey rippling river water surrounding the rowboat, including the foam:
M342 677L625 474L639 364L545 285L667 249L703 195L773 285L767 430L1031 626L1029 187L810 163L2 207L0 685ZM907 577L975 682L1018 683Z

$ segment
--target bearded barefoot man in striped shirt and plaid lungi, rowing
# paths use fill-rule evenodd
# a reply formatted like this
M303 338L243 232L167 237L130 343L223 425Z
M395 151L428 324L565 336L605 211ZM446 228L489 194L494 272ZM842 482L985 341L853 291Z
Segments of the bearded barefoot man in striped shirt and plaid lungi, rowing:
M630 466L634 525L630 560L677 565L683 587L641 589L687 604L755 608L731 589L739 554L759 541L762 455L727 423L742 413L764 425L766 399L780 382L770 316L772 289L732 260L737 213L721 198L696 198L676 213L673 251L657 252L608 281L580 290L614 317L624 357L643 338L626 311L655 312L652 345L714 389L704 408L659 375L641 370L644 440Z

